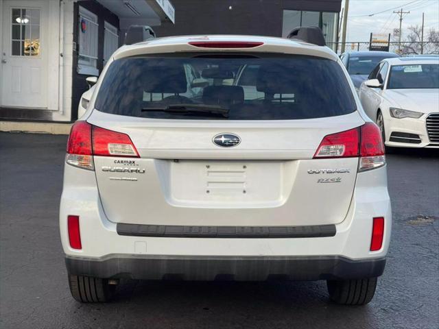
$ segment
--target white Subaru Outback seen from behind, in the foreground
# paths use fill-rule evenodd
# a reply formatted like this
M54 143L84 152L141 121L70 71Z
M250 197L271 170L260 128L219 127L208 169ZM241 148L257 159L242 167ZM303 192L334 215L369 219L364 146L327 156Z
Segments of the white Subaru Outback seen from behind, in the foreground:
M121 47L71 130L71 294L121 278L327 280L367 304L391 230L381 133L329 48L259 36Z

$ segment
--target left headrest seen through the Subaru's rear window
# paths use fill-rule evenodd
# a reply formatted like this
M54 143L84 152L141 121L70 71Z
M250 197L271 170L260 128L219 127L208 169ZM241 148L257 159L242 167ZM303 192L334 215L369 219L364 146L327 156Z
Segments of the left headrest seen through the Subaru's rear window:
M142 69L142 88L145 93L186 93L187 80L181 64L146 66Z

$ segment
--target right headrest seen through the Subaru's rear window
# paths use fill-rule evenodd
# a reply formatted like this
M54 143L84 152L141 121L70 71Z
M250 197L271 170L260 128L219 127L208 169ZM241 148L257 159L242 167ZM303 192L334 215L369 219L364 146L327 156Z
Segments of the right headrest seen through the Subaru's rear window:
M261 66L257 75L257 91L268 94L293 94L297 92L300 75L285 66L270 64Z

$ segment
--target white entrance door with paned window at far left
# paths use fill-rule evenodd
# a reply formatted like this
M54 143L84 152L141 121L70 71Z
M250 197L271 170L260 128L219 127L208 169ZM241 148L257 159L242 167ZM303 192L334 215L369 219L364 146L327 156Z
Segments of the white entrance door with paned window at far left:
M1 106L47 108L48 1L3 1Z

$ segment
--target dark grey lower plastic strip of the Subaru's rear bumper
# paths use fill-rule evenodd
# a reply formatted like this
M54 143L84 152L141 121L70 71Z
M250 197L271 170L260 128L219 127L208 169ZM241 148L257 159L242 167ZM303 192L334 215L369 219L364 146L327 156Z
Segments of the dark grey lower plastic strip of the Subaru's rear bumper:
M385 258L342 256L126 256L66 258L71 274L143 280L348 280L381 276Z

